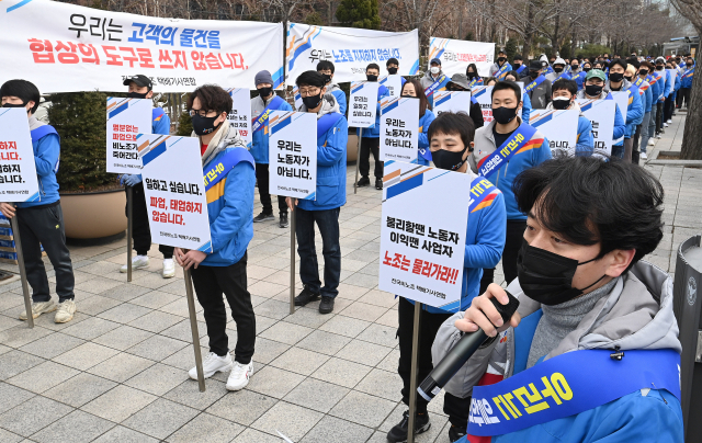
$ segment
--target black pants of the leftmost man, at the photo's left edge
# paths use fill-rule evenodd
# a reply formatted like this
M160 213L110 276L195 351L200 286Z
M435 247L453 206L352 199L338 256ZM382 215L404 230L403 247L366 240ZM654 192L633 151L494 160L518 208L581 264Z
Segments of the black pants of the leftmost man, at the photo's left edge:
M46 268L42 261L42 246L56 272L56 294L59 303L73 299L73 265L66 247L64 213L59 202L47 206L18 208L16 216L26 281L32 286L32 300L39 303L52 299Z

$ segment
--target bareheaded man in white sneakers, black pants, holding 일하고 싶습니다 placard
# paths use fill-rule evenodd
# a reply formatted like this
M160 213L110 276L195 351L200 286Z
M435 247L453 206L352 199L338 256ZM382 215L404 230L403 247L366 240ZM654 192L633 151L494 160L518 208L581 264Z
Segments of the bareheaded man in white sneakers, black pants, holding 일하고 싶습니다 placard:
M203 307L210 338L210 352L203 361L205 378L230 371L226 388L240 390L253 374L256 344L256 315L246 276L247 248L253 238L256 162L239 133L227 122L231 112L227 91L214 84L202 86L190 94L188 109L200 140L203 177L208 181L212 252L176 248L174 255L178 264L191 270L197 302ZM237 326L234 361L223 294ZM196 368L188 375L197 379Z

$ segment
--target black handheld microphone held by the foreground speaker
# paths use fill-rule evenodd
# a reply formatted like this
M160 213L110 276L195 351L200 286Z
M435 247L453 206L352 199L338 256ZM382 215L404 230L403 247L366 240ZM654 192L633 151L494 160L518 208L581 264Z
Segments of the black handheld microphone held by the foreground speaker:
M496 298L490 298L490 302L492 302L497 311L502 316L502 321L508 322L517 311L519 300L509 292L505 292L509 297L507 305L501 305ZM417 388L419 395L422 396L424 400L431 401L487 339L487 334L482 329L465 333L419 385Z

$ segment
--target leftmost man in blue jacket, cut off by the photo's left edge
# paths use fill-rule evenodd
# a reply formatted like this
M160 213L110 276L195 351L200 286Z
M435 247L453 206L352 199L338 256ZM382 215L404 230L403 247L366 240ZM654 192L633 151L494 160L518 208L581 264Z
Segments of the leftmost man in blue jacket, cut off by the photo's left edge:
M38 201L0 203L0 212L8 219L18 217L26 280L32 286L32 318L56 310L54 321L65 323L70 321L76 313L76 281L70 252L66 247L64 213L56 181L60 139L53 126L45 125L34 117L41 100L39 90L34 83L26 80L9 80L0 87L0 100L5 112L8 107L26 110L39 188ZM0 112L3 111L0 109ZM48 277L42 261L42 246L56 274L58 306L52 300ZM25 310L20 314L20 319L27 319Z

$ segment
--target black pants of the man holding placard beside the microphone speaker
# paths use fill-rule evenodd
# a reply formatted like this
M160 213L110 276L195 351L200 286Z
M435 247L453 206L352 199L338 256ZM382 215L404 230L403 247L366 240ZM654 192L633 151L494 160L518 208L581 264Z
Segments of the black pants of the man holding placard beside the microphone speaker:
M399 297L397 306L399 327L397 337L399 338L399 364L397 373L403 378L403 402L409 405L411 357L412 357L412 332L415 330L415 305ZM417 365L417 389L419 384L433 370L431 362L431 344L434 342L437 331L451 314L432 314L422 310L419 316L419 355ZM417 395L417 412L427 413L427 400ZM471 397L458 398L445 393L443 399L443 411L449 416L451 424L465 429L468 425L468 413L471 410Z

